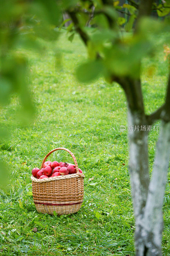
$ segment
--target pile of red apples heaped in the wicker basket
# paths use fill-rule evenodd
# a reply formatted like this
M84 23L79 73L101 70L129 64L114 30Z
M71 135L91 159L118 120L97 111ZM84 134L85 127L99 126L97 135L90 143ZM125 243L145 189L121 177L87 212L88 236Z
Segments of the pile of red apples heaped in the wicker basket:
M82 173L82 170L80 168L78 168L78 170L80 173ZM45 179L49 177L68 175L73 173L76 173L76 166L74 164L66 162L58 163L57 161L46 161L41 170L38 167L35 167L32 170L32 175L37 179Z

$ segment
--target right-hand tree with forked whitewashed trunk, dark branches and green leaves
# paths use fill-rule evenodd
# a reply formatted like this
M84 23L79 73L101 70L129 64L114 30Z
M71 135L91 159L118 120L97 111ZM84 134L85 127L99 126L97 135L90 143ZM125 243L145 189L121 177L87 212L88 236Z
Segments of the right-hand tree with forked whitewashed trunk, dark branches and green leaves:
M85 10L95 7L96 31L85 28ZM135 247L137 256L161 255L163 230L162 204L170 158L170 74L167 74L165 102L154 113L146 115L144 108L141 61L157 50L161 34L169 42L170 1L157 4L153 0L128 1L79 1L70 5L67 12L74 24L71 33L78 33L87 47L88 60L79 66L80 82L89 82L103 75L109 83L120 84L127 99L128 125L134 128L152 125L161 120L152 177L148 166L147 130L129 130L129 172L135 215ZM89 7L88 7L89 4ZM153 19L156 11L161 19ZM128 22L119 13L128 15ZM124 29L122 29L122 26ZM169 78L168 78L169 76Z

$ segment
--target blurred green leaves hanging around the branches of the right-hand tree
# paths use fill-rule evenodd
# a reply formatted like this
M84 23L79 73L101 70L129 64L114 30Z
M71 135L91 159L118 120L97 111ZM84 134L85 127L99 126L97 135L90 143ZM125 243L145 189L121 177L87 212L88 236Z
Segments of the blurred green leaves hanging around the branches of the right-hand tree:
M111 81L112 76L139 78L141 60L146 56L153 56L156 51L162 51L163 44L170 42L168 17L165 19L144 17L137 21L138 4L121 5L119 1L113 2L113 5L105 5L89 1L89 6L92 3L95 6L95 15L91 22L94 28L89 33L81 22L77 25L89 38L87 42L89 61L77 69L77 78L80 82L88 83L100 75L104 75L108 82ZM163 17L170 12L168 6L170 6L169 1L164 1L159 5L154 3L152 9ZM86 9L88 10L87 6ZM81 6L77 7L77 16L79 12L83 12ZM120 16L122 12L128 17ZM138 29L133 33L136 22ZM73 31L74 27L71 32ZM162 34L166 36L160 41ZM93 61L92 64L92 60L98 58L100 58L99 68L98 61Z

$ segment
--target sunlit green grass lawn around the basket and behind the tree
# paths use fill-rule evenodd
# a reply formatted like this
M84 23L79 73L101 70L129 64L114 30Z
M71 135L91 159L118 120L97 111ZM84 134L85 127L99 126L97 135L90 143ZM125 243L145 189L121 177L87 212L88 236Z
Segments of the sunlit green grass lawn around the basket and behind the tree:
M55 44L41 44L43 54L25 52L37 108L32 124L23 127L18 123L15 95L1 110L0 122L6 129L12 128L12 135L0 143L11 178L0 196L0 255L134 255L127 130L119 129L121 124L127 127L124 93L118 84L111 87L103 78L86 85L76 81L75 68L86 58L78 37L70 43L63 34ZM59 62L56 54L62 56L59 67L55 66ZM151 76L148 68L152 66ZM163 103L166 70L163 48L162 54L143 61L147 113ZM157 138L158 131L152 131L151 167ZM40 167L47 152L60 146L75 154L85 174L85 196L78 213L54 217L36 212L30 176L34 165ZM55 159L71 161L70 155L59 151L49 157ZM169 195L167 186L163 207L166 256L170 255ZM37 233L32 231L34 227Z

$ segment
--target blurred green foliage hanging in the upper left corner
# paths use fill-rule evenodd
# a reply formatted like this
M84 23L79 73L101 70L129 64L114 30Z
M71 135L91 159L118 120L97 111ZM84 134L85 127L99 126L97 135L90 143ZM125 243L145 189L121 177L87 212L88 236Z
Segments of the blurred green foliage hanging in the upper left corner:
M19 96L16 118L21 124L33 120L35 107L29 89L27 58L21 49L41 51L38 38L56 40L61 11L56 1L0 1L0 108ZM16 94L17 93L17 94ZM6 135L0 128L0 138Z

